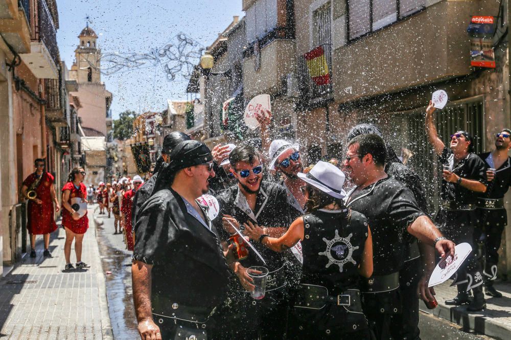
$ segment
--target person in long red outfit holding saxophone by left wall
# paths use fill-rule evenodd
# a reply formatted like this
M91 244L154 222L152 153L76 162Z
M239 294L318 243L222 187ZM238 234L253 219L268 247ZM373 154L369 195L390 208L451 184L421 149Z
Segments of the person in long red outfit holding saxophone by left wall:
M54 177L51 173L45 171L44 159L38 158L34 162L36 168L21 186L21 196L29 199L27 206L27 229L30 234L30 257L36 257L35 237L43 235L44 238L44 257L52 257L48 249L50 246L50 233L57 230L53 215L53 203L55 202L55 211L60 210L60 205L55 194L53 185Z

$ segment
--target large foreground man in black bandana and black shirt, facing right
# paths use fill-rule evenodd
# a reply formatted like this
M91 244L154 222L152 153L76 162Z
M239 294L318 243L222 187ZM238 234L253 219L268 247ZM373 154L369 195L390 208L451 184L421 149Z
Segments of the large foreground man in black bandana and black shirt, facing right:
M229 274L207 207L196 201L215 176L213 157L198 141L181 142L170 157L169 187L137 215L131 270L138 332L142 339L202 340Z

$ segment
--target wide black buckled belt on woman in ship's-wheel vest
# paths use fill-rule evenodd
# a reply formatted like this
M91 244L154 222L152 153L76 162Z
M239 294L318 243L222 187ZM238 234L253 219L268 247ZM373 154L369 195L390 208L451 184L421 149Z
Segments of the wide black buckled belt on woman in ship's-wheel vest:
M295 301L295 308L322 309L327 303L342 306L346 311L361 313L362 304L358 289L347 289L343 294L329 295L327 287L315 284L301 284Z

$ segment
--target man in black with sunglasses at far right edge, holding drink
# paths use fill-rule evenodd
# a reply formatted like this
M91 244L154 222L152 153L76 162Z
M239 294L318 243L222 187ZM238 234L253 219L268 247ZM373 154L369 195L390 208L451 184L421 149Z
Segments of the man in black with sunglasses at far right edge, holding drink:
M484 288L487 295L496 298L502 297L502 294L495 290L493 280L497 278L498 250L502 231L507 225L504 195L511 186L509 150L511 150L511 130L504 128L496 135L495 150L479 154L486 166L488 189L477 202L480 223L476 231L484 235Z

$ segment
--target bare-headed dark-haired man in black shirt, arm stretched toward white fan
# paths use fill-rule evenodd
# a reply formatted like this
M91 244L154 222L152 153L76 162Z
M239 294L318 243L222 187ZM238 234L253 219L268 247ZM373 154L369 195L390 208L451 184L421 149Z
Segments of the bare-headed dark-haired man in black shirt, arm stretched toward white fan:
M383 139L368 134L350 141L343 163L344 173L356 185L346 196L346 206L365 215L373 233L374 271L365 280L363 308L369 327L379 339L391 338L391 330L401 327L396 316L402 312L399 271L407 234L434 246L442 257L448 252L454 254L454 243L445 239L420 210L412 192L385 173L385 158ZM428 258L426 264L432 261ZM425 301L434 299L432 289L422 287L420 293Z

